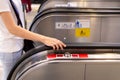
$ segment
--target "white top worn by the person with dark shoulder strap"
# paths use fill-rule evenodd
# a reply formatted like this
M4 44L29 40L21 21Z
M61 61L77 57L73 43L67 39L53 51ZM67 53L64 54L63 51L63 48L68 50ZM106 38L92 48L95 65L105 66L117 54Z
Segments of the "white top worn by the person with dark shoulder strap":
M13 1L16 4L22 24L24 25L24 14L22 10L21 0L13 0ZM9 11L12 13L13 18L15 19L15 22L17 24L17 19L15 17L14 11L12 9L12 6L9 0L0 0L0 13L6 12L6 11ZM0 53L16 52L22 48L23 48L23 39L9 33L0 16Z

